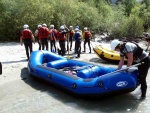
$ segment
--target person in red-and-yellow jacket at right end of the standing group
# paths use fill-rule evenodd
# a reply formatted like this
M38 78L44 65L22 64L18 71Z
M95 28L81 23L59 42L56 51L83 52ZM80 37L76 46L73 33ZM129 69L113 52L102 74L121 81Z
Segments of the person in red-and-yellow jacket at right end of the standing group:
M82 37L84 39L84 45L83 45L84 51L83 52L86 52L86 43L88 43L89 50L90 50L89 53L91 53L91 45L90 45L91 41L90 40L92 38L92 34L91 34L90 31L88 31L87 27L84 28L84 32L83 32L83 36Z

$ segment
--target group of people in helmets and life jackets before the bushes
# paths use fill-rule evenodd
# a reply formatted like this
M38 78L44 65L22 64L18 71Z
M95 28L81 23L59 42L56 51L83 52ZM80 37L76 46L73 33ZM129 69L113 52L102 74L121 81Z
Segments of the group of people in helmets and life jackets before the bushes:
M91 53L90 39L92 38L92 34L87 27L84 28L84 32L79 29L79 26L76 26L75 29L73 29L73 26L67 28L66 25L62 25L59 30L56 30L54 25L50 25L48 28L44 23L37 26L34 34L29 29L29 25L25 24L23 28L20 36L20 43L21 45L24 43L27 60L29 60L29 54L32 52L32 42L35 43L35 40L38 42L39 50L49 50L50 42L50 51L55 53L58 52L58 54L62 56L66 54L66 51L72 50L72 42L75 40L74 51L77 54L76 58L80 58L81 42L84 40L83 52L86 52L86 43L88 43L89 53ZM56 47L57 40L59 41L60 48L58 48L58 46Z

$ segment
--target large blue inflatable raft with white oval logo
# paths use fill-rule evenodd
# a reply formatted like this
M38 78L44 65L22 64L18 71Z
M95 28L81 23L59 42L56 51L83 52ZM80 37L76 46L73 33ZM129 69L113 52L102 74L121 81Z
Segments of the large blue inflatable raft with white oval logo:
M70 60L49 51L34 51L28 61L33 77L67 89L77 95L105 96L127 93L138 86L138 71L115 71L116 68Z

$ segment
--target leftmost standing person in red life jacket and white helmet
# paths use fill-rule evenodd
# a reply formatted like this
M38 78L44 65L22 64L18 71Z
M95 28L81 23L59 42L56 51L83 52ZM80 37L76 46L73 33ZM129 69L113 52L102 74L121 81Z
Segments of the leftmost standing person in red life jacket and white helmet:
M20 44L22 46L24 43L27 60L29 60L29 57L30 57L29 50L31 54L33 51L32 41L35 43L35 39L34 39L32 31L29 29L29 26L27 24L25 24L23 28L24 30L21 32L21 36L20 36Z

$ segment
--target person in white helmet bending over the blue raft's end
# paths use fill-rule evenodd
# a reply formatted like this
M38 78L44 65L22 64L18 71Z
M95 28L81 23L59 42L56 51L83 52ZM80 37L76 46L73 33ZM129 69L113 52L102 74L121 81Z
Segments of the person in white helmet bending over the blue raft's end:
M150 57L148 54L136 43L124 42L121 43L119 40L113 40L111 42L111 50L120 52L120 62L117 70L120 70L124 64L124 58L127 58L127 67L131 66L133 61L137 63L144 62L138 66L139 81L141 84L141 97L146 97L147 82L146 77L150 67Z

